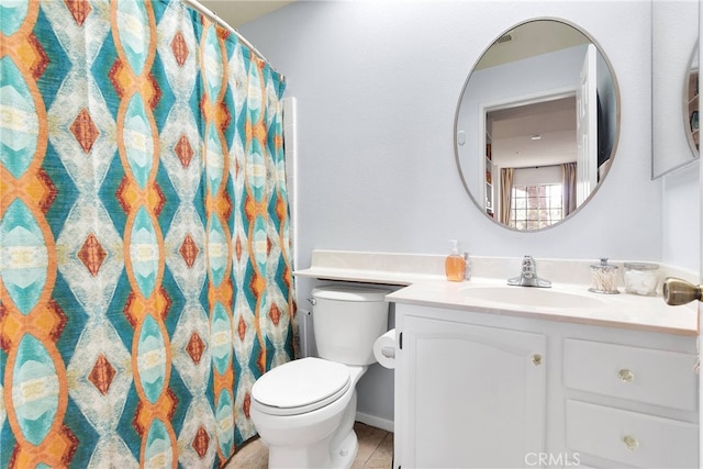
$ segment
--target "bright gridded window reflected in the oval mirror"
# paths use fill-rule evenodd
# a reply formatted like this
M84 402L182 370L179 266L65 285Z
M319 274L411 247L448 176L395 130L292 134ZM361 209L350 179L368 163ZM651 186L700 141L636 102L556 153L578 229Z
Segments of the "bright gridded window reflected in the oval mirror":
M513 186L510 226L539 230L563 219L561 185Z

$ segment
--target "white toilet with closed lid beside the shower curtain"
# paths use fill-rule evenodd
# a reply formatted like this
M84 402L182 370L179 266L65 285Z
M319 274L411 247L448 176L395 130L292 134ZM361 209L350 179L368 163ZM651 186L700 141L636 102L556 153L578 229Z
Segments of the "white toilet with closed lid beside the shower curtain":
M357 453L356 383L376 362L388 326L388 290L327 286L312 291L321 358L289 361L252 388L250 416L269 468L348 468Z

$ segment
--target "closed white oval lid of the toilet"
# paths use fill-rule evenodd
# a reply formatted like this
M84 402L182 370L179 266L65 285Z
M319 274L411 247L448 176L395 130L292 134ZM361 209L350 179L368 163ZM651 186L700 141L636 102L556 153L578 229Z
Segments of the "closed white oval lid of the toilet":
M252 397L261 412L295 415L336 401L348 388L345 365L308 357L268 371L254 383Z

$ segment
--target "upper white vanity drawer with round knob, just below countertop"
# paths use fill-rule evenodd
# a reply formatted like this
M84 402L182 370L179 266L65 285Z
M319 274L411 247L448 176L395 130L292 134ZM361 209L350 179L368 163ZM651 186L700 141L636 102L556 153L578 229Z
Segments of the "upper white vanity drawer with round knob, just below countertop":
M695 411L695 360L690 354L568 338L563 383L580 391Z

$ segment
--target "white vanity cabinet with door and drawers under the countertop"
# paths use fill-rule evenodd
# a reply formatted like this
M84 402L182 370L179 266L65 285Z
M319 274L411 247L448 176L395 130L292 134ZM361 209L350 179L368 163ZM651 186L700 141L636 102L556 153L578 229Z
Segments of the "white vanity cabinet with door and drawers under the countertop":
M395 331L395 468L698 467L694 336L404 303Z

